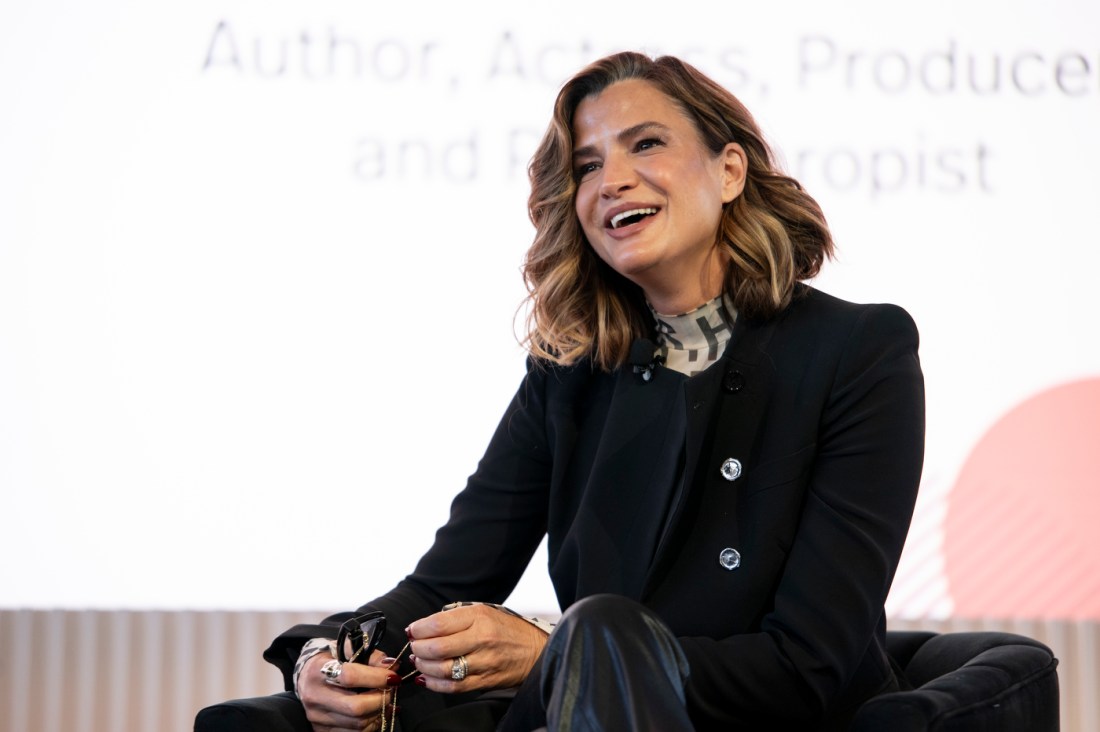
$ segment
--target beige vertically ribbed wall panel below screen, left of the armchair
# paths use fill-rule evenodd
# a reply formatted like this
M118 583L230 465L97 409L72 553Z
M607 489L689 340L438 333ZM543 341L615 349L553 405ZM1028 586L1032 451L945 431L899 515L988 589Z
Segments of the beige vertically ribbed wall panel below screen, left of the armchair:
M189 732L223 699L282 690L260 657L322 612L0 611L0 732Z

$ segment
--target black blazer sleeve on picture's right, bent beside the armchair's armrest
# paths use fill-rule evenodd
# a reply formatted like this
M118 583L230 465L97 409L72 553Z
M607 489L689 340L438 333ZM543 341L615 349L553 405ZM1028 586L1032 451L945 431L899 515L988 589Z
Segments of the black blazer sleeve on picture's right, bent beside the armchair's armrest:
M881 632L924 456L916 327L895 306L865 308L836 364L772 609L759 632L680 638L691 664L689 708L703 718L812 723L835 711L869 656L884 664L868 649ZM878 678L888 676L880 669Z

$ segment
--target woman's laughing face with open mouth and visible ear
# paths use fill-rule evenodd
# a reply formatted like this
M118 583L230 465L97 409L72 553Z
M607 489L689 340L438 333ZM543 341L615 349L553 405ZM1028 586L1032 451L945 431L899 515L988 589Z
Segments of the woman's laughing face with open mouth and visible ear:
M588 243L663 314L722 292L723 204L745 185L736 143L714 155L691 118L649 81L618 81L573 116L576 217Z

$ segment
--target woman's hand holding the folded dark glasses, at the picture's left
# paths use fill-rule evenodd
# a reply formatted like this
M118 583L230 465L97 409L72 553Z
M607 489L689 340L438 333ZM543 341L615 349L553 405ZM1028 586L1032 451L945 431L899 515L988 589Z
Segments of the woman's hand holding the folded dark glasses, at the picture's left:
M381 730L383 709L386 719L394 712L394 689L400 677L383 664L380 651L372 654L370 664L343 664L340 676L331 681L321 673L330 660L328 653L319 653L298 676L298 698L315 732Z

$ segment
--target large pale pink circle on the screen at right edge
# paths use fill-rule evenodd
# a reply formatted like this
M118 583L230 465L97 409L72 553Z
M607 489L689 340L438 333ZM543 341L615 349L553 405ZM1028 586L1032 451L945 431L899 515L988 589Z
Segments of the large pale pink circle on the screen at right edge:
M955 615L1100 620L1100 379L1001 417L967 458L944 531Z

